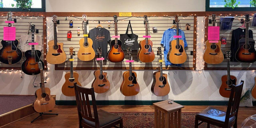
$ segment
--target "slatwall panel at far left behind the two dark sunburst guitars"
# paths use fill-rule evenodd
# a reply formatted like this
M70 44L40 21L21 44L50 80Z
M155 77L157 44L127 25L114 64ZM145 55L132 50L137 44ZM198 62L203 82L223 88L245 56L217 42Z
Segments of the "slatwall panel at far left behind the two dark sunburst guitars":
M15 18L15 17L13 17ZM3 40L3 35L4 35L4 27L8 26L7 23L5 23L6 21L6 17L0 18L0 40ZM35 18L35 17L18 17L17 18L17 23L13 24L13 27L16 27L16 39L19 40L20 39L20 35L26 35L27 34L27 30L28 30L28 22L31 22L32 24L36 25L36 29L38 29L39 33L37 35L41 35L42 36L42 43L43 43L43 18ZM29 34L31 35L31 32L29 30ZM35 32L36 34L36 32ZM42 44L43 46L43 44ZM2 48L2 44L0 43L0 47ZM20 44L19 44L19 48L20 48ZM23 53L26 51L22 51ZM44 60L44 49L42 47L42 56L41 56L41 60ZM8 64L3 64L0 62L0 68L2 69L20 69L20 66L22 64L22 62L25 60L25 56L23 55L23 58L21 59L20 62L18 62L17 64L13 64L13 65L8 65Z

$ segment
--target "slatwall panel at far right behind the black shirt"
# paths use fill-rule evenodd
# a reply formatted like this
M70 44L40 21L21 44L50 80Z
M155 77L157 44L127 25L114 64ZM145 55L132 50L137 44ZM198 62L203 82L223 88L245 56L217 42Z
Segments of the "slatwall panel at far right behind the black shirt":
M211 19L211 17L209 17ZM241 18L242 19L242 18ZM232 30L235 30L236 28L239 28L242 26L240 23L241 20L238 17L235 17L235 20L233 21L232 24ZM220 17L216 17L216 23L217 26L220 26ZM251 26L252 20L250 20L249 25ZM209 26L212 26L212 24L208 24ZM221 37L226 37L227 38L227 44L221 44L221 51L223 54L226 54L226 51L230 50L230 45L231 45L231 38L232 38L232 30L220 30L220 39ZM253 39L256 39L256 27L250 27L250 30L253 32ZM256 47L256 45L255 45ZM220 64L207 64L207 67L205 68L206 70L225 70L227 68L227 59L224 59L224 61ZM234 70L238 69L243 69L247 70L249 68L256 68L256 63L241 63L241 62L230 62L230 68Z

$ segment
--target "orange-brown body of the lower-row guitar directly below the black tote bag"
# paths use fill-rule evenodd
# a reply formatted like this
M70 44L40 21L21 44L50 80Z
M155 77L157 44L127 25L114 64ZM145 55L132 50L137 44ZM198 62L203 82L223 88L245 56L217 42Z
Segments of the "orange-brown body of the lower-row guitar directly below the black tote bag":
M120 86L120 91L124 96L134 96L140 92L140 86L137 82L137 74L132 71L133 79L129 80L129 71L125 71L123 74L123 82ZM132 86L129 86L132 85Z

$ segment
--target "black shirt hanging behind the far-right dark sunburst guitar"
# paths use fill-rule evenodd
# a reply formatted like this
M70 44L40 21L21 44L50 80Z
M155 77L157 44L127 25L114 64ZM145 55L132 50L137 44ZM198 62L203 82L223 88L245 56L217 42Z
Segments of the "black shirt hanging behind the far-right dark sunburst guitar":
M231 51L230 61L237 61L235 55L236 55L236 51L239 48L239 40L242 38L245 38L245 29L237 28L233 30L231 45L230 45L230 51ZM249 38L253 38L252 30L249 30Z

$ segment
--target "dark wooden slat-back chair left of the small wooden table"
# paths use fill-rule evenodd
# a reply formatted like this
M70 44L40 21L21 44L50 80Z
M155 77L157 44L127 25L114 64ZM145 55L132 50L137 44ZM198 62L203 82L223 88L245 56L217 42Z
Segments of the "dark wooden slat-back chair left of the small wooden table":
M102 109L97 111L93 88L84 88L77 85L76 83L74 83L74 86L79 117L79 128L123 128L122 117L116 116ZM93 113L91 112L88 95L91 95L92 97ZM119 124L119 127L116 126L117 124Z

